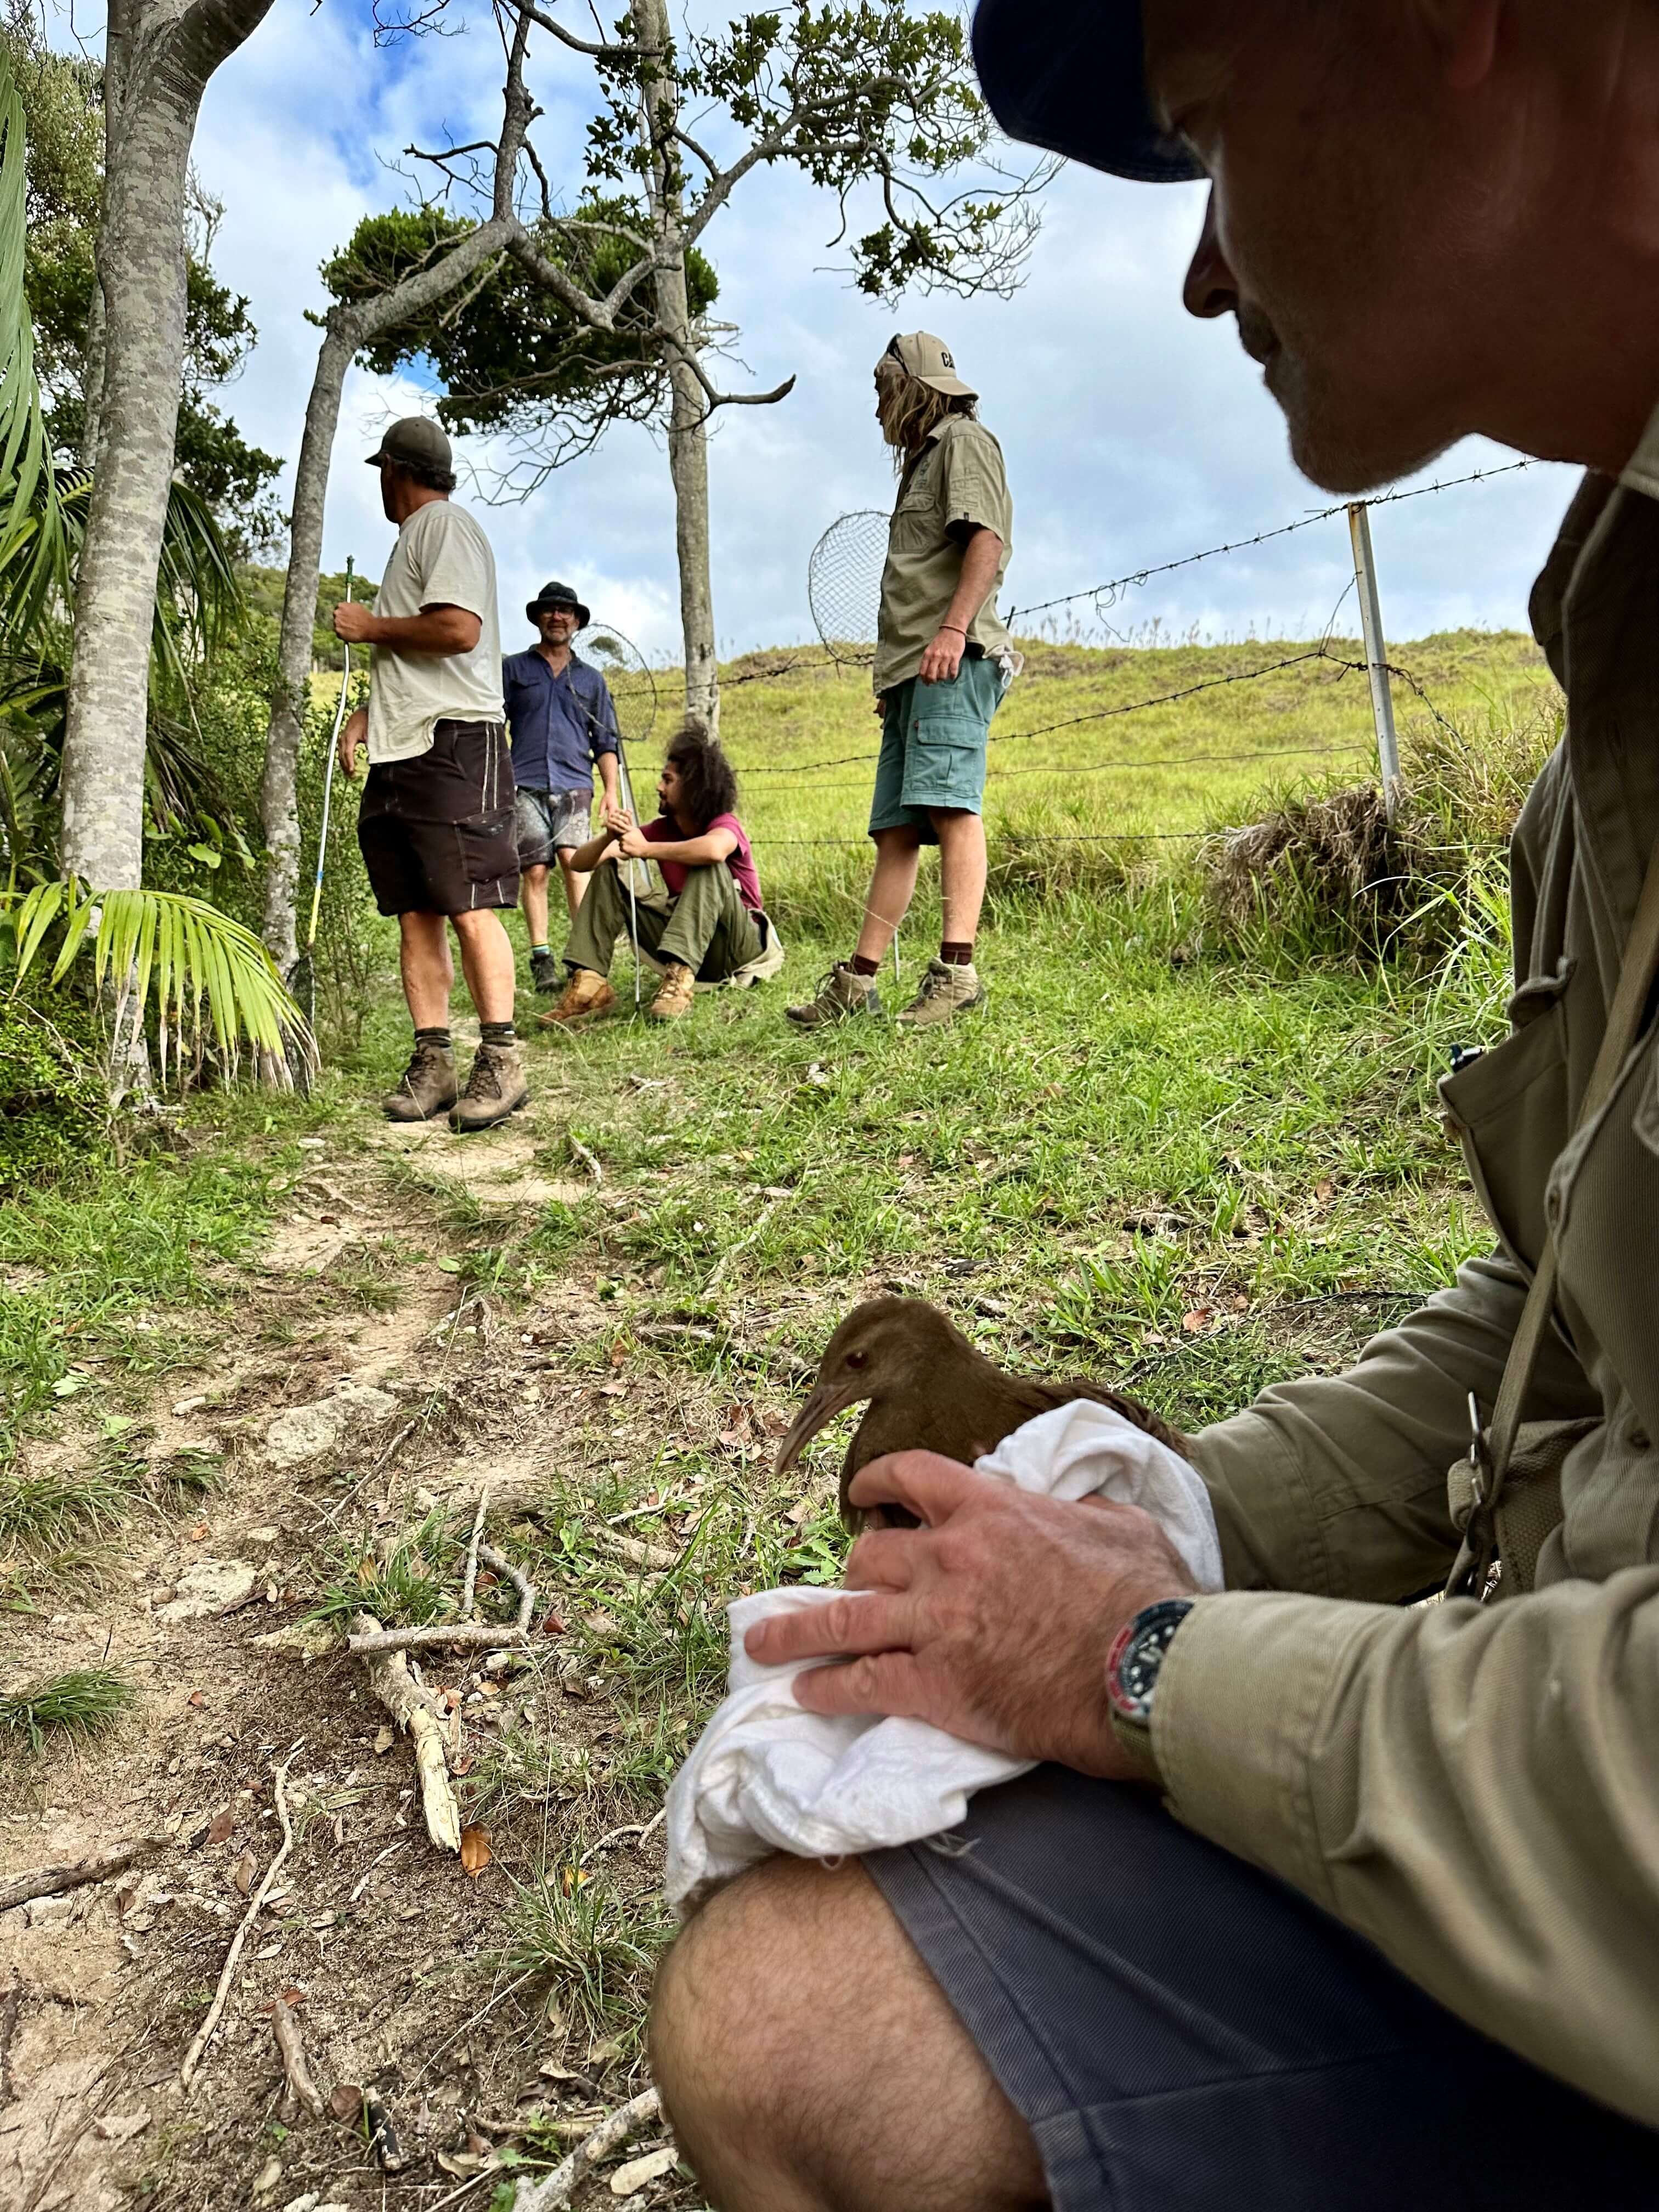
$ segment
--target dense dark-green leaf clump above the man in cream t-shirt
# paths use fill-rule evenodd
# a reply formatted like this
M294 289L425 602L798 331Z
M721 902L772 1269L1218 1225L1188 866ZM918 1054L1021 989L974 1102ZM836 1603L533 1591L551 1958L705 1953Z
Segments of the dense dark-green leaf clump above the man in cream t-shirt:
M323 283L341 301L372 299L471 228L440 206L369 215L323 263ZM595 296L648 250L644 210L622 197L584 199L533 232L546 259ZM719 283L697 250L686 257L686 285L692 316L706 316ZM524 431L560 416L602 427L655 411L661 396L650 288L637 290L617 321L615 332L586 327L520 261L502 257L482 281L387 332L361 358L380 374L425 361L445 392L438 414L456 431ZM591 442L582 431L577 438Z

